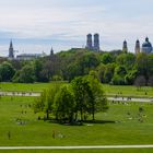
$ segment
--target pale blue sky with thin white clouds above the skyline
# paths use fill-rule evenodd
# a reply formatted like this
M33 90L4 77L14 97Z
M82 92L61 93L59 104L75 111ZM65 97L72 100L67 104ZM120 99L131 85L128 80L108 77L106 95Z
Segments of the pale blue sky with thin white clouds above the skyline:
M101 49L121 49L136 39L153 42L153 0L0 0L0 56L10 40L16 55L84 47L98 33Z

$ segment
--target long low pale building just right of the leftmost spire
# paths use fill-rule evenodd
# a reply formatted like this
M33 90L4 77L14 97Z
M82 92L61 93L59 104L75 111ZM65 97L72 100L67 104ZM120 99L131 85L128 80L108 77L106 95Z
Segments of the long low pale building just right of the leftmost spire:
M44 57L43 54L22 54L16 56L16 60L33 60L36 58Z

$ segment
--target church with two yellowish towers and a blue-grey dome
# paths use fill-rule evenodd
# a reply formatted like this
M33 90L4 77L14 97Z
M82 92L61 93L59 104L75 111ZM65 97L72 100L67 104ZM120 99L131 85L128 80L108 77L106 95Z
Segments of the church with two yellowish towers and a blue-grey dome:
M128 52L128 45L126 40L123 42L123 45L122 45L122 51ZM149 38L148 37L145 38L145 42L142 44L142 47L140 47L140 42L139 39L137 39L134 51L136 51L136 55L140 52L153 54L153 47Z

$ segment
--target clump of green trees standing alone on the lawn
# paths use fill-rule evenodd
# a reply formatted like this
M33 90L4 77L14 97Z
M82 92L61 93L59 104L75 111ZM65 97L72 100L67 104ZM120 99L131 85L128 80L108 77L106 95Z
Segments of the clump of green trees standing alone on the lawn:
M46 119L70 123L84 121L89 116L94 120L95 113L107 109L106 96L94 72L75 78L70 84L55 83L34 104L35 113L45 113Z

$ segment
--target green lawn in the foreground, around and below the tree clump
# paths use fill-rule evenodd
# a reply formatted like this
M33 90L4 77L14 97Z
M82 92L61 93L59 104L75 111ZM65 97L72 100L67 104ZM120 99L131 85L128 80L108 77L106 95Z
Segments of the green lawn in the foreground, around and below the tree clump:
M113 145L113 144L152 144L153 140L153 105L130 103L129 105L110 104L107 113L97 114L97 123L86 122L84 126L63 126L37 120L33 113L34 97L0 98L0 145ZM143 122L139 121L139 107L143 107ZM130 115L128 115L129 113ZM101 122L101 120L115 122ZM21 125L22 122L22 125ZM56 138L52 133L56 133ZM9 134L10 132L10 139ZM31 150L0 152L55 152L64 153L71 150ZM153 152L152 149L123 150L73 150L73 152Z

